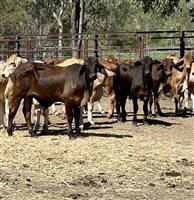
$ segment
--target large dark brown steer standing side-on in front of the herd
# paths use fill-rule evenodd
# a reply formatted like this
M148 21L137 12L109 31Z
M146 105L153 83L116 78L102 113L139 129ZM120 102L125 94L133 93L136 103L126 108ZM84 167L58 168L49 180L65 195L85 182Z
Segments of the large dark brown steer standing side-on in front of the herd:
M67 68L34 62L17 67L9 77L5 91L9 105L8 135L13 135L12 123L22 99L28 131L32 136L36 135L31 124L34 97L44 107L49 107L57 101L65 104L68 135L70 139L74 138L80 133L80 106L88 102L93 81L101 69L102 66L93 57L89 57L82 65L73 64ZM72 129L73 118L76 133Z

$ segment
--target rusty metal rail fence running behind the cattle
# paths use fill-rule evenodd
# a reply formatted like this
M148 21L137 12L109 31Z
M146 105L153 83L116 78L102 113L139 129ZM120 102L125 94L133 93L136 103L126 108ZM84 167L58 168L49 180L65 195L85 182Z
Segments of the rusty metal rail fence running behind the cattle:
M60 38L62 46L59 46L59 35L0 36L0 59L5 60L12 53L19 53L28 60L42 60L50 55L70 58L73 51L79 52L82 58L114 55L123 60L150 55L160 59L169 54L182 57L185 52L194 49L194 30L88 33L79 35L79 48L72 48L71 34Z

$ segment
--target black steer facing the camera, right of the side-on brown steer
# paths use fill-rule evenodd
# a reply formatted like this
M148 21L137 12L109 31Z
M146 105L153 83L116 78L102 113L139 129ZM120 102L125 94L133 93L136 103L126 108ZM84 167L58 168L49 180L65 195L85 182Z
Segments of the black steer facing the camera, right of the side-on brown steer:
M143 123L148 124L148 100L151 92L150 68L143 62L136 61L131 64L120 64L114 79L114 90L116 94L116 109L118 121L126 121L125 111L126 99L133 101L133 125L137 126L138 99L143 101L144 118ZM120 106L122 113L120 113Z

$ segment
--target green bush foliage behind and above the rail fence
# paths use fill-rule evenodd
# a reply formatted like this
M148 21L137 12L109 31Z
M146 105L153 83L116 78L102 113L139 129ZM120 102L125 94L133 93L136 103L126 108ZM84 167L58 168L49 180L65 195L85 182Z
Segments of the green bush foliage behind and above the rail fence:
M63 33L71 32L72 1L63 0ZM138 32L157 30L190 30L193 27L194 2L192 0L85 0L84 33ZM60 11L61 0L4 0L0 1L1 35L58 34L59 25L53 11ZM164 36L152 34L150 37ZM130 46L138 48L138 35L110 39L105 34L100 45ZM145 37L148 37L147 35ZM109 39L109 40L107 40ZM92 41L93 42L93 41ZM190 39L186 43L193 46ZM64 42L64 44L66 44ZM179 40L153 40L147 45L178 45ZM39 46L46 45L43 41ZM50 41L50 46L57 44ZM69 45L69 43L67 44ZM125 52L123 53L125 54ZM128 54L128 53L126 53Z

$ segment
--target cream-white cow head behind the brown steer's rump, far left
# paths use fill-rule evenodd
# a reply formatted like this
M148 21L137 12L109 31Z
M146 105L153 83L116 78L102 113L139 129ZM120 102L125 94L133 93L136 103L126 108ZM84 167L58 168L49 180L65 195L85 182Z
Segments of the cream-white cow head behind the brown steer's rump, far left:
M3 78L8 78L18 67L20 64L27 62L27 59L21 58L17 56L17 54L12 54L7 60L6 60L6 66L1 73L1 76Z

